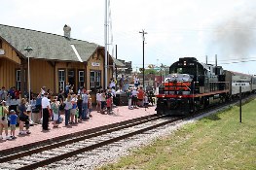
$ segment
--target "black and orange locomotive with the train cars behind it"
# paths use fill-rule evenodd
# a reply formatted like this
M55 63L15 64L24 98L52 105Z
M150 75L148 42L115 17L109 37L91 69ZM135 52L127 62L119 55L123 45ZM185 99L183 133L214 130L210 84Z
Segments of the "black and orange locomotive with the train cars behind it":
M158 114L188 115L210 105L255 92L256 77L201 63L195 57L179 58L159 86Z

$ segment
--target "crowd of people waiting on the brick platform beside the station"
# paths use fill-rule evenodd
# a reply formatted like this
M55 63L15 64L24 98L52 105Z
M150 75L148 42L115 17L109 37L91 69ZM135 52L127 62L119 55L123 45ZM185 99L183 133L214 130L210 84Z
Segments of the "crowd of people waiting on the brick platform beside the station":
M116 81L110 80L107 89L99 88L96 91L95 110L101 114L113 114L114 101L116 97ZM128 109L138 107L148 107L148 94L144 92L142 86L135 85L134 88L118 90L126 93L128 97ZM46 86L41 88L38 95L31 94L31 100L20 98L20 93L16 87L9 90L5 86L0 90L0 140L5 131L5 139L16 139L16 126L18 124L18 134L30 134L30 125L35 123L42 124L42 130L50 130L50 121L53 121L53 128L57 128L59 123L64 120L65 126L77 124L92 118L91 90L80 88L76 93L73 86L67 84L61 89L58 95L54 96ZM62 118L64 117L64 118ZM10 126L10 135L8 132Z

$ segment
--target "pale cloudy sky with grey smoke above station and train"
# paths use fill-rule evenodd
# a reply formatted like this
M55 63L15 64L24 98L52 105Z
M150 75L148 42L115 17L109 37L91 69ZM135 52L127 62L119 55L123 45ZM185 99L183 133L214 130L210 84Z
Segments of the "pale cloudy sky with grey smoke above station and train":
M170 66L179 57L197 57L226 70L256 74L254 0L110 0L109 51L142 68ZM1 0L0 24L63 35L104 46L105 0ZM112 47L114 49L112 50ZM255 60L255 61L254 61Z

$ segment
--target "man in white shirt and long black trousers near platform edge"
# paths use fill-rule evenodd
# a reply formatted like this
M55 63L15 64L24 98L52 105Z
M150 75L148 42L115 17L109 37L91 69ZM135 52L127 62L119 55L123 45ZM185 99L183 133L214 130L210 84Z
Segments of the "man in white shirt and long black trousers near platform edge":
M48 124L49 124L49 118L51 113L50 111L51 106L50 106L47 92L44 93L44 97L42 98L42 109L43 109L43 123L42 123L43 130L50 130L48 128Z

